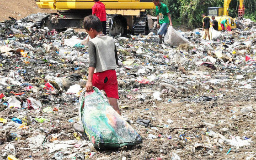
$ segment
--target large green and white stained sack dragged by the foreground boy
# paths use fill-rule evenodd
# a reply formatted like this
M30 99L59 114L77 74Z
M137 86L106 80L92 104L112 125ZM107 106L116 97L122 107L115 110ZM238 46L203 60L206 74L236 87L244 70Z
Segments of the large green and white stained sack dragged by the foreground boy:
M108 104L107 97L96 87L91 92L81 92L79 115L86 135L98 149L142 143L142 137Z

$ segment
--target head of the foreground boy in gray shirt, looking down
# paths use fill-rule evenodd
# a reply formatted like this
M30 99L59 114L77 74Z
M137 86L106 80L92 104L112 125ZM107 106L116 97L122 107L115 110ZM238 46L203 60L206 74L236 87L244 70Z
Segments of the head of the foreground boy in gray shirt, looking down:
M83 27L91 38L95 38L103 30L101 20L96 15L86 16Z

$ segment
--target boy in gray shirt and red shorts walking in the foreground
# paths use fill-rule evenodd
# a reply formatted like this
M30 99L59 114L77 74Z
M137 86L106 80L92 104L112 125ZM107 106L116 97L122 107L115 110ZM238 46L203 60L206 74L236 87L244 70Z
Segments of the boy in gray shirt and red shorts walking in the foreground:
M93 86L104 90L109 104L121 115L117 104L119 96L115 69L118 61L115 41L112 37L103 34L101 21L95 15L85 17L83 25L91 37L88 42L90 62L85 90L91 91Z

